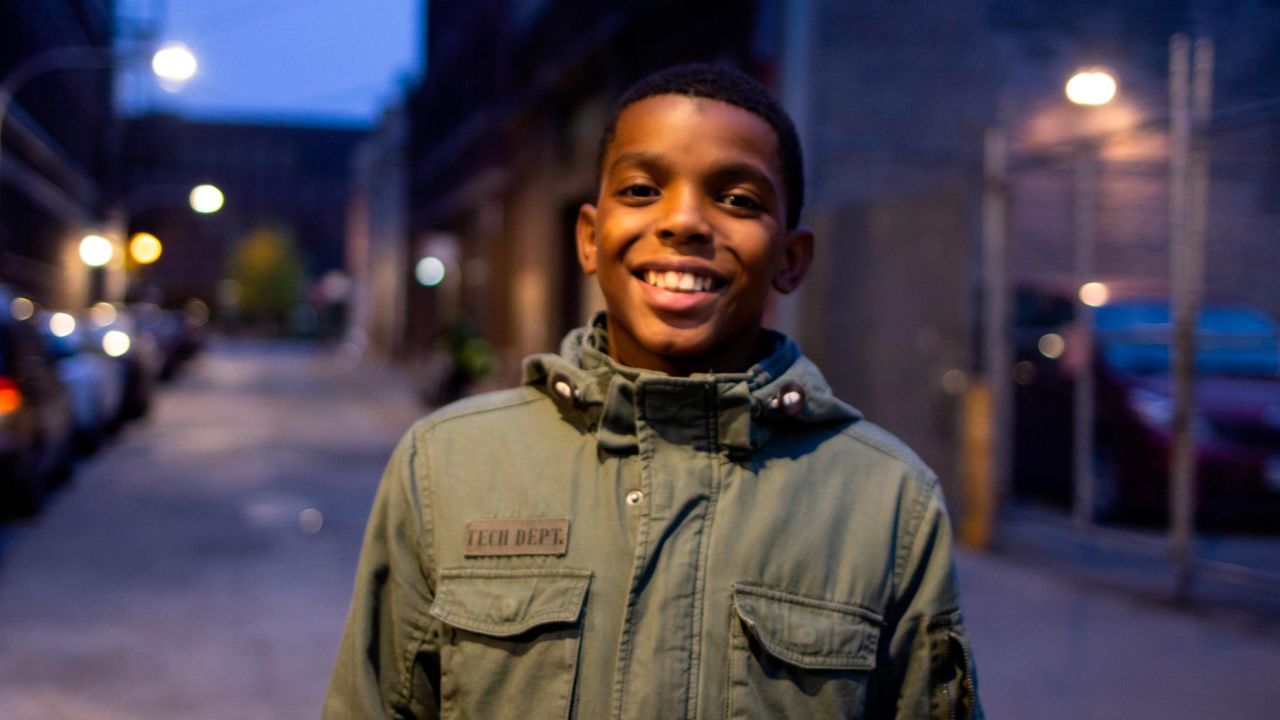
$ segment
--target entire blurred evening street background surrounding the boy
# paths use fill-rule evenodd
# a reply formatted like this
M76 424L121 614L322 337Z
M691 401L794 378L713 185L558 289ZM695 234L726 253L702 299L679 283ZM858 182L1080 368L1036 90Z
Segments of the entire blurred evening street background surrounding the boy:
M768 324L943 479L992 717L1280 702L1276 0L0 1L0 716L319 712L416 416L603 306L635 79L791 113Z

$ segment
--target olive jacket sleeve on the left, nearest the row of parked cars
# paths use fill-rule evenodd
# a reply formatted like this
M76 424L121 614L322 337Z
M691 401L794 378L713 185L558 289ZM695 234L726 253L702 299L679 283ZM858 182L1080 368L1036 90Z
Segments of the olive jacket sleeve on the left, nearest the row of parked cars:
M374 498L326 720L439 716L439 625L428 615L434 587L416 433L396 447Z

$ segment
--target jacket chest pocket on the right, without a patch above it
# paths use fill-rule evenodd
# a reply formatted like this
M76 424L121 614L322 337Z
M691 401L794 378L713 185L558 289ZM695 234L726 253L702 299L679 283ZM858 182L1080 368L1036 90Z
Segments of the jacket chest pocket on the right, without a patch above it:
M737 584L726 717L861 717L879 628L854 605Z

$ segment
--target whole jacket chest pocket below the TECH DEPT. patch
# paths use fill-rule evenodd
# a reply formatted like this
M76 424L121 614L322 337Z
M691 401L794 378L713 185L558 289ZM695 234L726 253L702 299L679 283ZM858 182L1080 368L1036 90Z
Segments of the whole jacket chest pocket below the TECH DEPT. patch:
M440 715L568 717L591 573L442 570Z

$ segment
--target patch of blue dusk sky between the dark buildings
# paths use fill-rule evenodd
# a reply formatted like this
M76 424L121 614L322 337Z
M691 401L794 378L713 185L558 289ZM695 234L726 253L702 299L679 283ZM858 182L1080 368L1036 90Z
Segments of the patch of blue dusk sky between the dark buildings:
M119 4L154 12L155 0ZM200 70L180 91L147 73L122 77L127 111L289 122L376 122L421 65L422 0L168 0L161 41Z

